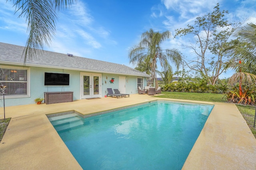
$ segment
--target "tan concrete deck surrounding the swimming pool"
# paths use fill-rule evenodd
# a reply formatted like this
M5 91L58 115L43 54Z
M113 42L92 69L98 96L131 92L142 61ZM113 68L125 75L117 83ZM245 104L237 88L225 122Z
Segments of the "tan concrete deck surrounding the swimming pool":
M108 97L60 104L6 107L6 117L12 119L0 143L0 169L82 169L46 115L67 111L88 115L153 100L172 99L132 94L130 98ZM198 103L214 104L214 108L183 169L255 170L256 139L237 107L226 103ZM3 118L1 107L0 119Z

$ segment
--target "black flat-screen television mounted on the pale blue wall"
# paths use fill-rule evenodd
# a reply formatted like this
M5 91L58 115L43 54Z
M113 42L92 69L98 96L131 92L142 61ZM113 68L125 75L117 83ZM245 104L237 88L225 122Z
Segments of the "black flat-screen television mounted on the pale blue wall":
M63 73L44 73L44 86L69 85L69 74Z

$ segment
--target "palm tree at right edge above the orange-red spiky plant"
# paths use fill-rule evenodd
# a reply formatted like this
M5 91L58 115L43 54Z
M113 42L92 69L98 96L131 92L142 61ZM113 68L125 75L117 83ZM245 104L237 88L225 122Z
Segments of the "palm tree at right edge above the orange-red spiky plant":
M244 27L240 27L236 33L238 40L234 41L234 45L227 50L233 59L228 65L237 70L229 78L229 84L239 82L239 94L230 91L232 94L231 101L237 101L244 104L255 104L255 83L256 83L256 25L249 23ZM242 40L242 41L241 41ZM242 85L243 86L242 88ZM251 86L253 85L253 86ZM235 98L238 98L236 100Z

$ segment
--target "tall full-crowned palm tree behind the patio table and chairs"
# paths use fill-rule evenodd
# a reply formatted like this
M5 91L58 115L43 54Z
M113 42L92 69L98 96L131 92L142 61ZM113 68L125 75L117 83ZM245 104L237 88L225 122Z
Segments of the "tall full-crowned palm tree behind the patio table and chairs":
M157 63L159 61L162 70L170 70L172 68L169 61L174 63L178 69L182 61L182 56L177 49L163 50L160 45L168 38L170 38L170 31L163 33L154 32L153 29L142 33L141 41L138 45L132 47L129 51L130 63L132 64L146 64L144 68L150 69L152 80L156 88L158 82L156 78Z

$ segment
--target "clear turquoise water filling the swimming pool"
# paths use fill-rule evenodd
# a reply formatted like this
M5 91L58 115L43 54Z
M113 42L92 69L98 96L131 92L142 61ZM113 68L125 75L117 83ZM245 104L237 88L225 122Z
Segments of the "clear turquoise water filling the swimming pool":
M162 101L49 119L83 169L180 170L212 108Z

